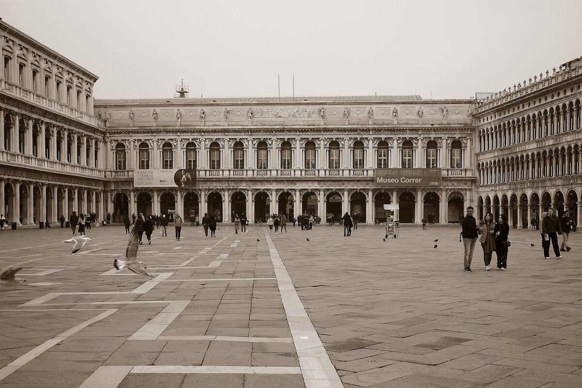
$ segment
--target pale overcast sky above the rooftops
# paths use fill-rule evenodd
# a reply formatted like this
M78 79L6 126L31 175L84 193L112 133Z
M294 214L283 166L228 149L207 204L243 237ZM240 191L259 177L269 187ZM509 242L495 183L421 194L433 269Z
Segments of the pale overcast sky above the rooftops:
M582 55L582 1L0 1L95 98L470 98Z

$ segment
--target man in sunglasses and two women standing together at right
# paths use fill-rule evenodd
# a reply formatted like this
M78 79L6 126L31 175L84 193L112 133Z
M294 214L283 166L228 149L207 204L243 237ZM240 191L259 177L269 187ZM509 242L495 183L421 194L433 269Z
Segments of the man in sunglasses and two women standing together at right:
M484 219L479 221L473 217L474 209L467 207L467 215L461 222L461 237L464 245L463 271L472 272L471 261L477 241L481 243L483 250L483 261L485 270L491 270L491 259L493 252L497 256L497 269L506 270L508 268L508 252L511 245L509 241L509 225L505 214L500 214L495 222L492 213L485 213Z

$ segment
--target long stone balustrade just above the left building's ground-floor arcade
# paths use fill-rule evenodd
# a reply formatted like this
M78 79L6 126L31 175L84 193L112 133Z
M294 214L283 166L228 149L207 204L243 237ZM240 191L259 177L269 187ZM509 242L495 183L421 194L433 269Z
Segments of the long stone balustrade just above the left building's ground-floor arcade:
M101 169L93 167L72 165L51 159L37 158L36 156L23 155L11 151L0 151L0 163L12 166L30 166L41 172L65 172L76 173L77 175L104 177L105 173Z

